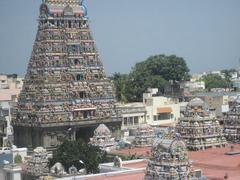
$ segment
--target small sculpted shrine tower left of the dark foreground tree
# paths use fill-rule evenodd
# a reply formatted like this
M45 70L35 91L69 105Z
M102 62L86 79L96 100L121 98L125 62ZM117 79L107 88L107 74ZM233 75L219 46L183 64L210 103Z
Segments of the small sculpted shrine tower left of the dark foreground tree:
M26 180L40 179L48 176L48 153L43 147L37 147L33 150L31 157L26 158L22 165L22 178Z

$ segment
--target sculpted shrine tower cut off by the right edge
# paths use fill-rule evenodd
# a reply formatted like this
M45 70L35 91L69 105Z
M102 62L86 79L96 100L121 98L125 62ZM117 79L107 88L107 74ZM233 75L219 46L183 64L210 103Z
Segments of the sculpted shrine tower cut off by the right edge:
M230 104L229 112L223 117L223 124L227 141L240 143L240 96Z

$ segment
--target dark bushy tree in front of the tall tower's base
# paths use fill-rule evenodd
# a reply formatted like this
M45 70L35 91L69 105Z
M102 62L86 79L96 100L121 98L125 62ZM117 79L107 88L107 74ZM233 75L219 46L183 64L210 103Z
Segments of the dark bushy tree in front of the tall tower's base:
M85 168L88 173L98 173L98 165L104 159L104 153L99 147L85 143L83 140L64 141L53 153L50 159L49 167L60 162L68 171L68 168L74 165L77 169ZM85 164L81 164L82 160Z

